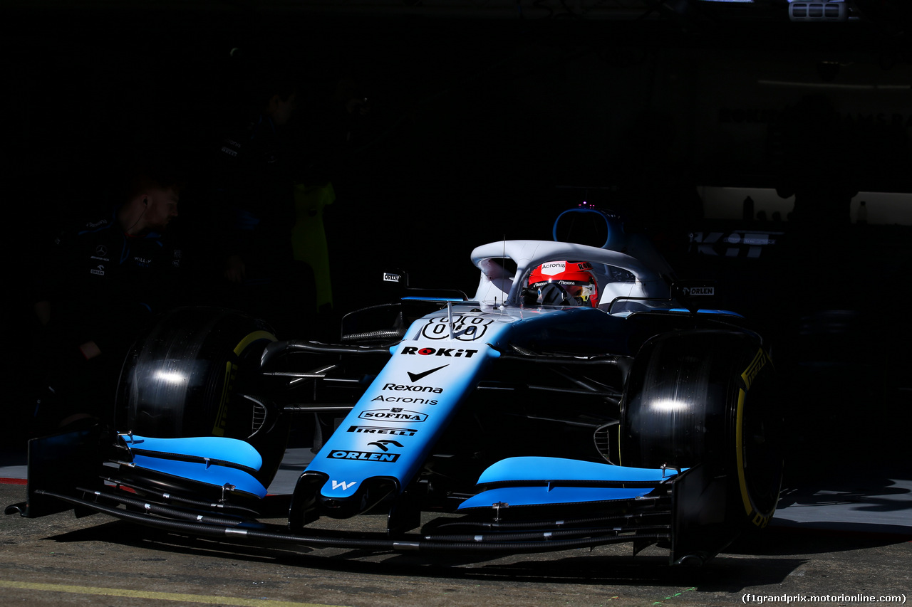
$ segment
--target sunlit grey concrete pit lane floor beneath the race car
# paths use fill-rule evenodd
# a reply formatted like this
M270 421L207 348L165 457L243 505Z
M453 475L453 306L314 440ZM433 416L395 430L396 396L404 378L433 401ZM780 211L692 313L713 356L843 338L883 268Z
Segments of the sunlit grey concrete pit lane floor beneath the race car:
M270 489L293 486L289 449ZM0 503L25 499L8 454ZM904 463L904 462L900 462ZM786 488L770 526L700 568L627 545L492 559L238 546L72 512L0 518L2 604L351 607L904 604L912 598L912 470L824 468ZM382 529L385 518L343 521ZM873 598L872 598L873 597Z

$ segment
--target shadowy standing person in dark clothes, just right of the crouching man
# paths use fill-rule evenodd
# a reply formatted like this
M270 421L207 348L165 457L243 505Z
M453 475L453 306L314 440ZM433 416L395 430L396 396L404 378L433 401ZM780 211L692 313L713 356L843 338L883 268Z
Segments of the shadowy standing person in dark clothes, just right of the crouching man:
M223 213L223 276L229 303L285 329L316 307L314 273L295 260L295 183L306 159L291 129L298 82L278 67L257 67L252 117L228 129L214 170Z

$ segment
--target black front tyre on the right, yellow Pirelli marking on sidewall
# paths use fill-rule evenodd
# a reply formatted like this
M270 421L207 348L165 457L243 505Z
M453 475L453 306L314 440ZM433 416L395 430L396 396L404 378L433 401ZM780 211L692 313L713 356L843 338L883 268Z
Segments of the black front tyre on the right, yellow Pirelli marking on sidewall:
M782 412L772 362L753 334L688 330L643 345L627 378L620 463L709 467L732 512L765 527L782 484Z

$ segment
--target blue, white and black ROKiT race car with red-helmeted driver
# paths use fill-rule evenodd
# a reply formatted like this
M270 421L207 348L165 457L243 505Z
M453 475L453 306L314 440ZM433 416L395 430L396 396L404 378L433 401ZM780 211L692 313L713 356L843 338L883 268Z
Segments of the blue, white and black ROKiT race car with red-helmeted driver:
M133 346L112 427L30 441L27 501L7 513L309 549L629 542L708 561L778 500L768 347L614 217L567 211L555 239L568 221L598 246L482 245L471 297L386 273L398 297L347 314L336 344L172 311ZM268 493L289 437L313 458ZM327 524L365 514L385 529Z

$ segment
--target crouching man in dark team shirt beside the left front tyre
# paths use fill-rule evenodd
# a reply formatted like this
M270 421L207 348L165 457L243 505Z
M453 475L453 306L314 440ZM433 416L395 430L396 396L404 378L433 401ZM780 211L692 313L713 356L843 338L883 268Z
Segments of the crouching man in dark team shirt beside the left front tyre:
M104 416L130 343L180 292L181 250L164 232L181 177L163 166L131 172L123 202L61 231L36 273L33 434Z

